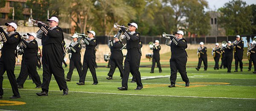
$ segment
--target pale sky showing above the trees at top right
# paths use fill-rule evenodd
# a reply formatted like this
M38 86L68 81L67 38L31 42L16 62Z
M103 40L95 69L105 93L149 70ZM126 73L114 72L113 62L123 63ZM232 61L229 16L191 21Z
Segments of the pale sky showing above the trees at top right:
M206 0L208 2L210 11L217 11L218 8L221 8L224 6L225 3L228 3L229 1L232 0ZM256 4L256 0L242 0L245 1L246 4L251 5L251 4ZM208 11L208 10L207 10Z

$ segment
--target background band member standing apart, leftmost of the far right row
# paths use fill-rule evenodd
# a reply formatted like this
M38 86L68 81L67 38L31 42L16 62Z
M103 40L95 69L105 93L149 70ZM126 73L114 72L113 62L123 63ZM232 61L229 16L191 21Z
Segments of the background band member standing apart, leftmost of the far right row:
M198 47L198 67L195 69L199 71L202 61L204 62L204 71L207 70L207 47L204 47L204 42L200 42L200 47Z

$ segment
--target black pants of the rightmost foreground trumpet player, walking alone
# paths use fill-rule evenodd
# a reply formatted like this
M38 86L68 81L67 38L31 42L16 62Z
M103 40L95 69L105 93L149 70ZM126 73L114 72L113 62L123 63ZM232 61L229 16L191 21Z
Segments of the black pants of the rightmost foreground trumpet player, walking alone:
M182 57L181 57L182 56ZM170 81L171 84L175 84L176 79L177 79L177 70L180 72L180 76L184 82L189 82L189 78L187 76L186 72L186 62L187 62L187 57L186 55L173 55L170 59L170 68L171 68L171 76L170 76Z

